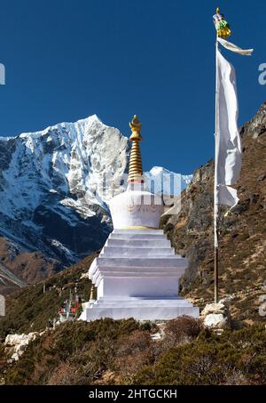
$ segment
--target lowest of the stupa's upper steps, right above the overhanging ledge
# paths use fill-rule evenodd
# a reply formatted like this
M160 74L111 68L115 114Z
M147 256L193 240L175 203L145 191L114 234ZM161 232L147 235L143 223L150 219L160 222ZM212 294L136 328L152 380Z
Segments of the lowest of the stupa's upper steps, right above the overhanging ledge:
M153 257L153 256L174 256L173 247L112 247L105 246L100 256L110 257Z

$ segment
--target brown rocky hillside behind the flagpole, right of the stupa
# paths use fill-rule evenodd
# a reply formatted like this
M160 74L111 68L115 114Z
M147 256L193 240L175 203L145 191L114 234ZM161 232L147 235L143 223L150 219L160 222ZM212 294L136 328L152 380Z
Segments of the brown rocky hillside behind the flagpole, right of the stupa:
M240 133L239 205L229 214L220 209L220 293L231 295L236 318L255 320L262 319L259 297L266 294L266 103ZM195 300L212 300L214 292L213 179L210 161L183 192L180 213L162 219L176 252L189 258L183 294Z

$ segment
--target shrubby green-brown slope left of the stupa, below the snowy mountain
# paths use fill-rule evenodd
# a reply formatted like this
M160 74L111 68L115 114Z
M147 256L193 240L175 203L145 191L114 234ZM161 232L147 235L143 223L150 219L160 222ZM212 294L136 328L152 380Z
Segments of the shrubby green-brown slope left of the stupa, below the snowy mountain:
M39 332L51 326L53 318L58 318L63 302L70 293L74 294L75 286L77 294L84 301L89 301L90 280L87 273L93 258L94 255L89 256L51 278L8 295L6 315L0 317L0 339L3 340L7 334Z

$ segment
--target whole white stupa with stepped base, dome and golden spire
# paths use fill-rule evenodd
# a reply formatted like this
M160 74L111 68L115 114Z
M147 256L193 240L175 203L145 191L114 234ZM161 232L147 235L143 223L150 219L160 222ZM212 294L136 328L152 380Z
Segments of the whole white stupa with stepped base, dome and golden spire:
M129 186L110 201L113 232L92 262L89 278L96 299L83 307L81 319L136 318L164 320L188 315L199 317L199 308L178 296L179 279L187 260L176 255L159 230L161 197L145 191L139 141L141 124L129 124L132 149Z

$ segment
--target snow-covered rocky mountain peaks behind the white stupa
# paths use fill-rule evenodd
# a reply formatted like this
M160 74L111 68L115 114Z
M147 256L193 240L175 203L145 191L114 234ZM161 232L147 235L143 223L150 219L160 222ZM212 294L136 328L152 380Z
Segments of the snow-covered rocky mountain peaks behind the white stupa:
M0 138L0 235L63 262L98 250L112 229L108 201L126 188L129 149L97 115ZM146 174L159 183L161 173L174 174Z

